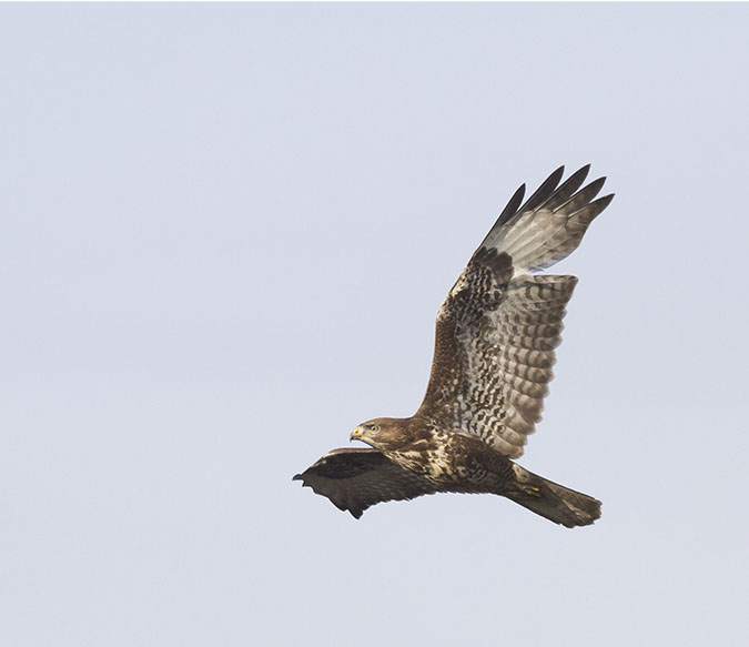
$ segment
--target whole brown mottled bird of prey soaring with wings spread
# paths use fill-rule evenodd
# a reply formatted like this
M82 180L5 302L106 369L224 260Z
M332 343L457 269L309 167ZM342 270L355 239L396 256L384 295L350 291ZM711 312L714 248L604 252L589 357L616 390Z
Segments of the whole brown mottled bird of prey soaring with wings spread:
M372 505L437 492L490 493L569 528L591 524L600 502L520 467L540 421L575 276L536 274L569 255L611 202L605 178L580 189L557 169L523 203L509 200L437 314L429 383L409 418L375 418L333 449L302 484L360 518ZM523 204L522 204L523 203Z

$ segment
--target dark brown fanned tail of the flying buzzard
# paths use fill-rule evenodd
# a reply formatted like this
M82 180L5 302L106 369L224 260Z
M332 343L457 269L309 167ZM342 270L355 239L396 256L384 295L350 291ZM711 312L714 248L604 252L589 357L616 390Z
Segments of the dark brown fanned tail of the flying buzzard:
M587 526L600 516L598 499L532 474L513 464L515 485L504 495L541 517L568 528Z

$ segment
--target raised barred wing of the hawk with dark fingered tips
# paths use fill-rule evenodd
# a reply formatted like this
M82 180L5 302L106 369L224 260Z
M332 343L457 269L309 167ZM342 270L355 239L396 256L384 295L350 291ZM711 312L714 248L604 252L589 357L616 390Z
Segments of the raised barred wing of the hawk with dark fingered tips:
M614 195L584 166L557 169L523 204L517 190L437 314L434 362L417 416L517 458L540 421L575 276L535 276L570 254Z

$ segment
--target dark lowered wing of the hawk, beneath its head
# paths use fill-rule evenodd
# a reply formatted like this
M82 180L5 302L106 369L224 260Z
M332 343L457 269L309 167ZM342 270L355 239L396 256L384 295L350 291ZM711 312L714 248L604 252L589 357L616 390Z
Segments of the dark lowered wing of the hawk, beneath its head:
M294 476L342 510L360 518L364 510L385 501L416 498L437 489L425 478L398 467L377 449L333 449Z

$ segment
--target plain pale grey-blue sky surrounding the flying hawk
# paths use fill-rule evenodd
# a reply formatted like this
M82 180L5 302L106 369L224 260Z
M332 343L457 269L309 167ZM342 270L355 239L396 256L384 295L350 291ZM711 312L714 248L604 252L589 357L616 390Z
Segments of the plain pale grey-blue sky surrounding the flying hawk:
M0 6L0 644L747 639L749 7ZM617 196L520 463L356 522L514 190ZM532 186L533 185L533 186Z

